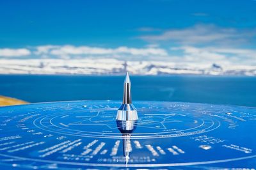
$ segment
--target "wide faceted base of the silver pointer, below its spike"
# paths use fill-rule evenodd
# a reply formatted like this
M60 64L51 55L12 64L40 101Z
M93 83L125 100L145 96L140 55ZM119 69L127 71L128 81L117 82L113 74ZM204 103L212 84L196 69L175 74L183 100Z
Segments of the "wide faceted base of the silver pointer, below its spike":
M138 114L134 105L122 104L117 111L116 120L138 120Z

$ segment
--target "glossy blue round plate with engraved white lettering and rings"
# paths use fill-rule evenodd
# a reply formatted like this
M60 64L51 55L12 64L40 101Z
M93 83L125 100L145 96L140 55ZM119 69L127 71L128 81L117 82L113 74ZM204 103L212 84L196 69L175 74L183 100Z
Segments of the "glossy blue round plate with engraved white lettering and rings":
M256 167L256 108L133 104L136 121L109 100L1 107L1 169Z

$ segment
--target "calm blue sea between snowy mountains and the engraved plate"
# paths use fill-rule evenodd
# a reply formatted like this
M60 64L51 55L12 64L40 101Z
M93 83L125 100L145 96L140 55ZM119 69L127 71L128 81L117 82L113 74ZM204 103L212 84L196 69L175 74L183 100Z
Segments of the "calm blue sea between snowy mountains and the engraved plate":
M131 76L132 100L256 107L256 77ZM28 102L122 100L124 76L0 75L0 95Z

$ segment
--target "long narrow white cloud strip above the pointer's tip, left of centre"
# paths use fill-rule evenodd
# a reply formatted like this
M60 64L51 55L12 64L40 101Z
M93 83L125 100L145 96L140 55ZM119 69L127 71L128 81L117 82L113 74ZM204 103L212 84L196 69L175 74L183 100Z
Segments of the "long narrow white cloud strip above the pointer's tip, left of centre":
M35 54L52 54L55 56L68 55L116 55L128 54L132 56L166 56L168 53L164 49L156 47L147 48L129 48L118 47L116 49L89 47L89 46L73 46L73 45L45 45L37 47Z

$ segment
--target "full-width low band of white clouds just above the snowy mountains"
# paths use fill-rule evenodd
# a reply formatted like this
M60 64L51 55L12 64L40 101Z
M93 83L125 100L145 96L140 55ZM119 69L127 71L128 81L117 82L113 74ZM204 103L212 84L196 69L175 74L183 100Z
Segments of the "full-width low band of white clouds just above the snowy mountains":
M181 45L171 49L163 49L158 44L149 44L143 48L131 47L90 47L74 45L42 45L29 49L0 49L0 58L20 57L26 59L118 59L119 61L162 61L179 65L204 66L217 63L219 65L256 65L256 50L234 47L196 47Z

